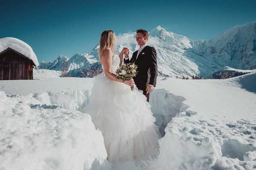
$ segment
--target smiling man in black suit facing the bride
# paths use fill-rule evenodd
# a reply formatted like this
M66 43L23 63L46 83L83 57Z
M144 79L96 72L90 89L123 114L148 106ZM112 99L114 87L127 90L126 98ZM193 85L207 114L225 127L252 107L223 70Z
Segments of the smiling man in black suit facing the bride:
M136 41L140 46L139 50L132 54L131 59L125 55L124 62L125 64L134 62L138 66L138 74L134 77L134 82L137 88L143 91L149 102L149 94L153 91L157 81L157 52L154 47L147 44L148 31L138 29Z

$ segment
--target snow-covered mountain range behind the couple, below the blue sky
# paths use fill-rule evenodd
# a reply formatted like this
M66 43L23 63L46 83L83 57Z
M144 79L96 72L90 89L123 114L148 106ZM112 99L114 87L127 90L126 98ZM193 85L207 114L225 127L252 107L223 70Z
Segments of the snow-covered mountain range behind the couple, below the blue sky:
M116 54L123 47L128 47L131 57L139 48L135 37L136 33L117 36ZM256 23L235 26L211 40L191 40L157 26L149 32L148 45L157 50L160 77L198 74L207 77L224 66L236 69L256 68ZM67 61L72 76L79 77L79 71L85 71L96 62L99 65L98 48L99 45L96 45L89 53L75 54ZM45 68L45 63L41 63L40 68Z

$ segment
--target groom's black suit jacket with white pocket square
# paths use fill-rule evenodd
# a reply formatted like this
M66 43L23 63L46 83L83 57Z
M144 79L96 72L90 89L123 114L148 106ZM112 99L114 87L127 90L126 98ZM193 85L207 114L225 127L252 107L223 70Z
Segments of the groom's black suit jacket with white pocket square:
M148 85L156 86L157 81L157 52L154 47L145 46L140 52L138 58L138 51L132 54L131 59L124 59L126 63L135 63L138 68L138 74L134 77L134 82L138 89L145 91Z

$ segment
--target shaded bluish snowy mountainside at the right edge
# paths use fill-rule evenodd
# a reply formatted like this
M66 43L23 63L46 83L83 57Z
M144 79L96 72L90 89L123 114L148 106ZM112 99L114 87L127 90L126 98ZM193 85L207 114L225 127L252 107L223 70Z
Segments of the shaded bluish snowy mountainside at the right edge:
M214 59L218 65L237 69L256 68L256 23L235 26L212 40L192 41L191 51Z

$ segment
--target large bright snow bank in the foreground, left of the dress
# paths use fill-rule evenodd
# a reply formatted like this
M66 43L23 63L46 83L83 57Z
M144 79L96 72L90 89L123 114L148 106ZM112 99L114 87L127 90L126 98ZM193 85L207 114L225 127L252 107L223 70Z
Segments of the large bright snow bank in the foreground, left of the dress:
M37 96L45 98L46 94ZM0 92L0 169L90 170L108 167L103 136L88 114ZM33 98L33 99L32 99ZM29 100L30 99L30 100ZM26 104L41 103L41 104Z

